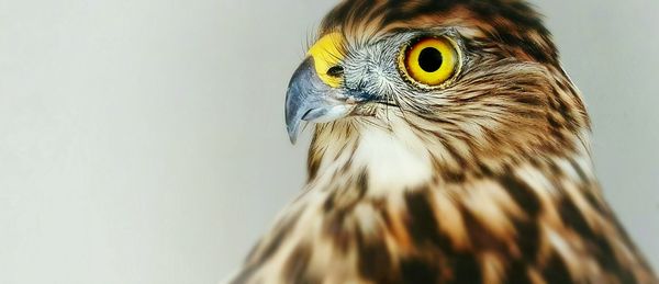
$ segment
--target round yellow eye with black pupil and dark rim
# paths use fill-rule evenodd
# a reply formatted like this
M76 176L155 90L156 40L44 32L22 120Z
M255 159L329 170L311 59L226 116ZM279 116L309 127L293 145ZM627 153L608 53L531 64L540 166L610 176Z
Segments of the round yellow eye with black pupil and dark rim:
M422 37L403 47L399 68L423 88L440 88L459 72L460 57L449 38Z

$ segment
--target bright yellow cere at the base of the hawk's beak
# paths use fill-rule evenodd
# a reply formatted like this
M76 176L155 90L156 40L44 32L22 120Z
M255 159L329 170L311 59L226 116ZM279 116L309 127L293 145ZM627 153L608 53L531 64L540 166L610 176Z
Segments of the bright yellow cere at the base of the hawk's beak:
M338 88L343 77L327 75L330 68L338 65L344 58L344 37L340 33L330 33L319 39L310 49L309 55L313 57L315 70L323 82L332 88Z

